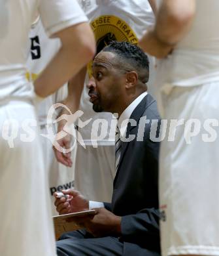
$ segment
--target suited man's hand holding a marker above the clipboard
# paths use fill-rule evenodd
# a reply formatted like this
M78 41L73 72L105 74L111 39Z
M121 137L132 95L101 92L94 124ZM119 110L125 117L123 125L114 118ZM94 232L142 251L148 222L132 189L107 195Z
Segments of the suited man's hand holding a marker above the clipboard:
M56 198L57 192L54 193L56 211L58 211L59 215L89 210L89 201L77 190L69 189L62 190L62 192L65 195L69 195L69 198Z

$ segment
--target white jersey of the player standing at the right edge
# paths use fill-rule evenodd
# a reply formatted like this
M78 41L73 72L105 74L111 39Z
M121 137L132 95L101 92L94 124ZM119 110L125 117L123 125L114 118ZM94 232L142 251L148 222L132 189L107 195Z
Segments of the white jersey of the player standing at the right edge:
M162 0L158 0L158 5ZM163 83L193 86L219 80L219 1L198 0L190 32L167 58L159 61ZM210 17L211 16L211 17Z

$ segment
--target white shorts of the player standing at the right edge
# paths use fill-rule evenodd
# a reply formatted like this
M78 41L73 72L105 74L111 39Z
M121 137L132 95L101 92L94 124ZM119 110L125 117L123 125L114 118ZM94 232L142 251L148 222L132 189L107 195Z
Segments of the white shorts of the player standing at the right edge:
M161 142L162 255L219 255L219 82L162 98L163 119L183 123Z

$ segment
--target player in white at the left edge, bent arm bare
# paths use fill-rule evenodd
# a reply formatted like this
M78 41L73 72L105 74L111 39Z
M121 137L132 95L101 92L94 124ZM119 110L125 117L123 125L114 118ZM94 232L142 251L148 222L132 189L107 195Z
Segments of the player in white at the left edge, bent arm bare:
M28 33L37 12L46 33L59 37L62 43L59 53L35 82L38 97L56 91L94 53L92 31L74 1L0 2L0 255L3 256L56 255L33 104L35 93L25 76ZM75 43L75 38L80 43Z

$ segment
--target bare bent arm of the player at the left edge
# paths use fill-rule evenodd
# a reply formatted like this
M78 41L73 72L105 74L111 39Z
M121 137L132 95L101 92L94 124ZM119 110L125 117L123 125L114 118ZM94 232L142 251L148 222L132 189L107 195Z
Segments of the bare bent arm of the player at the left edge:
M95 54L95 39L87 22L65 28L53 36L61 39L61 49L35 81L35 92L41 97L54 93Z

